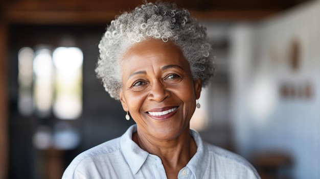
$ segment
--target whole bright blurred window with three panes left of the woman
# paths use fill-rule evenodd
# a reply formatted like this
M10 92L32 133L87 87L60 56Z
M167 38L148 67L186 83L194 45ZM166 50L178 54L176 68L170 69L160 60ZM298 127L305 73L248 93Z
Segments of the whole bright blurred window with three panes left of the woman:
M77 119L82 112L83 54L78 47L24 47L18 54L22 115Z

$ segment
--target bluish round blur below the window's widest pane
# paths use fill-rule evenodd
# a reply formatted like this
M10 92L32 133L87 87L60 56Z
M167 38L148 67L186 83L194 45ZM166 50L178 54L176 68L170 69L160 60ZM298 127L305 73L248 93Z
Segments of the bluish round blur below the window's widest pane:
M61 150L74 149L80 144L78 132L66 122L58 122L54 126L54 147Z

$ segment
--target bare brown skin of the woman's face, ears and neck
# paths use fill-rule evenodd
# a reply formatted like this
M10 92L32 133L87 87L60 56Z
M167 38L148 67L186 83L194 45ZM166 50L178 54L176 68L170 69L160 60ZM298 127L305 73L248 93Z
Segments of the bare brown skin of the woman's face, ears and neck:
M200 97L188 61L172 42L134 44L122 59L120 100L136 122L133 141L161 158L168 178L177 178L197 150L190 119Z

